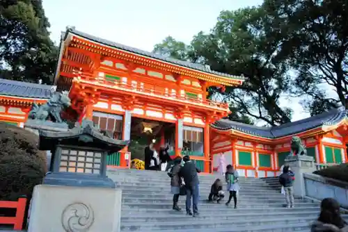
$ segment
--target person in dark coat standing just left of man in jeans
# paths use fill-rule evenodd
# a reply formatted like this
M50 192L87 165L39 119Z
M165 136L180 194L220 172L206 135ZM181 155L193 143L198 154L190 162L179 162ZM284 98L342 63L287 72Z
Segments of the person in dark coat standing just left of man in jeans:
M168 172L168 176L171 177L171 193L173 194L173 210L180 211L181 208L177 206L177 202L180 197L180 188L182 186L181 177L179 176L180 168L181 168L182 158L177 156L173 160L173 167Z

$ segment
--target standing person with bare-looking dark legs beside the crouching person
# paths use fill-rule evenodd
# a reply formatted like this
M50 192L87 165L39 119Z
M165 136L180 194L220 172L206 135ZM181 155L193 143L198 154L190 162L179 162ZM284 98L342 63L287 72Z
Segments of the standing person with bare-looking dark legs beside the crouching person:
M233 168L232 165L227 165L226 167L226 174L225 179L227 183L227 190L230 192L230 197L228 197L228 201L226 202L226 206L228 206L232 200L235 203L235 208L237 208L237 193L240 189L239 187L239 174L238 172Z

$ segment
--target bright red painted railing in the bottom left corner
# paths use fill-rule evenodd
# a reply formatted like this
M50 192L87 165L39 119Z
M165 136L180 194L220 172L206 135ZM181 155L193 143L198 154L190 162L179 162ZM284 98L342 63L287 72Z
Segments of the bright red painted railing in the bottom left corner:
M26 208L26 198L19 198L18 201L0 201L0 208L15 208L15 217L0 217L0 224L12 224L13 229L22 230Z

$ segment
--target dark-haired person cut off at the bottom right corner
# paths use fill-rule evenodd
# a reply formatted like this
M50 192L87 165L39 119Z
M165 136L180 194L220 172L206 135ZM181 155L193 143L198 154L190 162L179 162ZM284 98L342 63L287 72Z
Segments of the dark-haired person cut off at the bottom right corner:
M325 198L320 204L320 215L310 232L348 232L348 223L340 215L340 204L333 198Z

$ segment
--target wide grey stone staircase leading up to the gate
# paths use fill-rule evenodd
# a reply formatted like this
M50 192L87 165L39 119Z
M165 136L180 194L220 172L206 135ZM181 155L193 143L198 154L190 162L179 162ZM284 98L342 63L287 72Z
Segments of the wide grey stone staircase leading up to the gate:
M170 179L166 172L110 169L108 176L122 188L121 231L309 231L319 213L319 204L295 199L295 208L285 208L278 179L241 178L238 208L207 203L210 186L218 176L200 175L199 217L184 210L175 212ZM222 176L221 176L222 178ZM231 204L233 205L233 204Z

